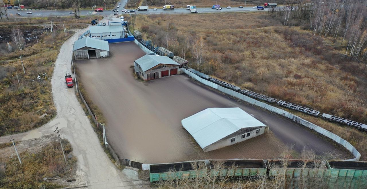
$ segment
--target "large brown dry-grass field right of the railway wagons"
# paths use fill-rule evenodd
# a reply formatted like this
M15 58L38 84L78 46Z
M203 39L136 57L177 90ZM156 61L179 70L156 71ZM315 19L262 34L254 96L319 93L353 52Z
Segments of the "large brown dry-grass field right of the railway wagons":
M132 22L144 39L188 59L192 67L212 77L367 123L367 66L341 56L345 50L339 40L282 26L266 13L137 15ZM367 155L365 133L304 117L351 142L362 157Z

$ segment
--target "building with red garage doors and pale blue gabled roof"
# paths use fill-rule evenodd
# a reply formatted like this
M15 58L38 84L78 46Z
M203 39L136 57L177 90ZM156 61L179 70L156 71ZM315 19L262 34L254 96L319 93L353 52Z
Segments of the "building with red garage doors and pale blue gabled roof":
M165 56L144 55L134 61L135 72L141 79L148 81L178 73L179 63Z

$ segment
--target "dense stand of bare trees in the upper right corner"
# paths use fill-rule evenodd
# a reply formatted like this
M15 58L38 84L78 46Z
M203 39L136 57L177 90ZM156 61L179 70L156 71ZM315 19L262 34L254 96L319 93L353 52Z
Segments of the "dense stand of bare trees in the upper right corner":
M269 10L286 26L303 26L314 36L333 37L345 54L367 59L367 0L288 0L287 7Z

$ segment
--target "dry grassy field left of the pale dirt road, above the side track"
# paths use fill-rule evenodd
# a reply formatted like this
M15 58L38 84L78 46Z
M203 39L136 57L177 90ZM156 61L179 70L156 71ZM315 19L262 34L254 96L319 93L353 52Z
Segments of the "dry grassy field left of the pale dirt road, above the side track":
M85 24L90 22L90 17L82 19L54 18L53 21L61 30L54 27L55 32L52 33L50 28L46 33L46 30L42 30L44 26L39 26L40 23L48 21L48 18L21 18L13 20L13 22L0 22L0 25L7 25L1 26L1 33L2 36L8 36L6 41L9 41L10 46L12 46L12 51L8 51L6 42L1 40L0 136L42 126L56 114L50 79L59 47L74 33L69 29L84 28ZM24 25L27 22L30 25ZM62 30L64 22L68 26L68 36L65 36ZM20 28L19 25L23 25L23 27ZM36 41L36 33L33 32L33 29L37 30L39 43ZM18 44L19 41L21 43L22 50L16 45L14 37L11 37L13 30L17 36ZM22 56L25 74L19 56ZM39 79L37 79L38 76L40 76ZM40 118L44 113L48 115Z

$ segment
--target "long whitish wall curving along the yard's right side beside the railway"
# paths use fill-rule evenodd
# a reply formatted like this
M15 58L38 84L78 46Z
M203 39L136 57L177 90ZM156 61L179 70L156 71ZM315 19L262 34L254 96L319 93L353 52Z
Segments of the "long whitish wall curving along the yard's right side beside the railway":
M321 135L324 135L327 138L330 138L334 142L339 143L340 145L344 146L344 148L349 150L355 156L355 158L349 159L348 161L358 161L359 158L361 157L361 154L358 152L358 150L354 146L352 146L348 141L342 139L338 135L335 135L334 133L332 133L328 130L325 130L324 128L321 128L321 127L319 127L319 126L317 126L317 125L315 125L315 124L313 124L309 121L306 121L306 120L302 119L301 117L293 115L292 113L289 113L285 110L282 110L282 109L276 108L274 106L268 105L267 103L264 103L264 102L257 101L253 98L247 97L246 95L240 94L239 92L232 91L228 88L224 88L224 87L219 86L215 83L212 83L211 81L202 79L201 77L197 76L196 74L194 74L192 72L189 72L189 70L185 69L184 72L186 74L188 74L190 77L192 77L193 79L199 81L200 83L203 83L203 84L205 84L209 87L215 88L215 89L217 89L221 92L224 92L225 94L228 94L228 95L231 95L233 97L239 98L239 99L241 99L241 100L243 100L247 103L250 103L252 105L258 106L260 108L269 110L270 112L274 112L274 113L277 113L281 116L287 117L288 119L291 119L292 121L294 121L296 123L299 123L302 126L305 126L305 127L309 128L311 130L314 130L314 131L318 132Z

